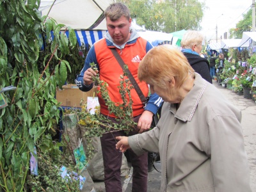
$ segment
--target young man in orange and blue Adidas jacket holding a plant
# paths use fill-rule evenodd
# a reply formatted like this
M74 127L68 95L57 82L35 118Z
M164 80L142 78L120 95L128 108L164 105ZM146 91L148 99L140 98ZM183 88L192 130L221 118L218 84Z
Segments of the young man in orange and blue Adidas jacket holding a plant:
M148 95L148 85L138 80L138 66L145 54L152 49L152 45L140 37L134 28L131 28L131 15L127 6L122 3L113 3L106 8L104 15L108 33L103 39L96 42L84 63L81 74L77 77L76 83L80 90L86 92L93 87L92 77L99 72L100 80L108 83L109 97L113 102L122 102L119 94L118 85L120 84L120 75L124 74L122 68L116 61L111 52L115 48L120 54L122 60L128 65L132 76L140 86L143 95ZM96 63L98 70L93 70L90 63ZM116 116L109 113L108 106L98 94L100 103L100 113L108 116L113 122L116 122ZM132 113L134 122L138 122L135 133L148 131L152 122L152 116L156 114L157 109L163 101L158 95L150 95L147 106L144 107L136 90L131 90ZM124 131L107 132L101 138L102 155L104 161L104 183L106 191L122 191L120 179L120 167L122 164L122 153L115 149L115 136L125 136ZM147 191L147 154L136 156L134 152L129 151L130 160L133 167L132 191Z

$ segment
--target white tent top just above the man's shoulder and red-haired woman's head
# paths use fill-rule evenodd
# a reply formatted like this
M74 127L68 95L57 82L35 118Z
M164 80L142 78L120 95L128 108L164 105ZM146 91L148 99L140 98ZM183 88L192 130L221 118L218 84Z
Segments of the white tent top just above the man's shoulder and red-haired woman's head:
M138 31L138 33L153 46L157 46L164 41L172 42L173 37L170 33L163 33L160 31Z

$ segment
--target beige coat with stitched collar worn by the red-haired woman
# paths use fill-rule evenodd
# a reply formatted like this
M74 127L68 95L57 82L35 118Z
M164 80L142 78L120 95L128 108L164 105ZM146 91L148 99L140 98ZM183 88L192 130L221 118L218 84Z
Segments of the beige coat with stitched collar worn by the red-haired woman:
M179 109L165 102L157 127L129 137L129 145L136 154L159 151L161 191L248 192L240 122L241 111L196 74Z

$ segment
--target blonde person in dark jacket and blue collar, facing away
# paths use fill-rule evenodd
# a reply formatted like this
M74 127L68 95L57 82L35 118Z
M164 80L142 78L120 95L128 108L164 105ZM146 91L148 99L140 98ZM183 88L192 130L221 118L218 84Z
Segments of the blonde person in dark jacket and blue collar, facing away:
M200 74L206 81L212 83L212 78L210 76L209 61L200 56L202 50L202 42L204 36L198 31L188 30L182 37L180 42L182 47L182 52L188 59L191 67Z

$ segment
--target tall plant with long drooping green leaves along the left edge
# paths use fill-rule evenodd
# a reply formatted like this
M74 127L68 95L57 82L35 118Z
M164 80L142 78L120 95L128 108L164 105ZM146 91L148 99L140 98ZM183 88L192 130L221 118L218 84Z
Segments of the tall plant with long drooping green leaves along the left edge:
M30 152L35 146L42 150L38 145L42 136L56 134L60 118L56 86L65 83L70 71L61 57L77 42L74 30L41 17L39 4L36 0L0 3L0 89L17 88L4 93L8 106L0 115L0 191L26 191ZM69 30L69 39L61 29ZM55 36L51 53L38 64L43 38L48 41L51 31ZM52 70L54 57L58 63ZM42 70L38 65L44 66Z

